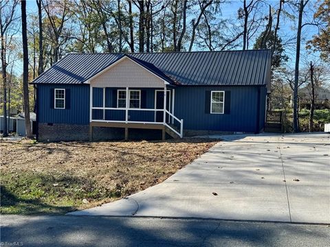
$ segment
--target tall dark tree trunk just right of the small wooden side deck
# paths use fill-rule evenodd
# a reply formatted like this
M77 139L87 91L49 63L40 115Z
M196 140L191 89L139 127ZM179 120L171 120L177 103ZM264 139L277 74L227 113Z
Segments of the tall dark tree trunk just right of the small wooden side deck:
M300 60L300 41L301 41L301 26L303 22L304 0L300 0L298 30L297 30L297 46L296 46L296 65L294 71L294 132L299 131L298 124L298 81L299 81L299 60Z

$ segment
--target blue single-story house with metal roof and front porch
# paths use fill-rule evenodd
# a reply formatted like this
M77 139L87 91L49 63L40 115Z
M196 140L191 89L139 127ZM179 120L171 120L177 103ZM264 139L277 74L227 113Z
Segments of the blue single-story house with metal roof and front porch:
M266 49L68 54L32 82L37 138L260 132L270 59Z

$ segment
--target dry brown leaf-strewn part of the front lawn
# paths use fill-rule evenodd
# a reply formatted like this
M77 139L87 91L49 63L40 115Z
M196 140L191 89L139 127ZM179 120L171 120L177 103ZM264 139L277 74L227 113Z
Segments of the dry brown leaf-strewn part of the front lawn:
M120 198L161 183L215 143L208 139L94 143L0 141L1 174L10 174L10 179L29 173L72 176L92 181L92 189L111 191ZM77 202L74 206L91 207L110 201L111 196L89 199L88 205Z

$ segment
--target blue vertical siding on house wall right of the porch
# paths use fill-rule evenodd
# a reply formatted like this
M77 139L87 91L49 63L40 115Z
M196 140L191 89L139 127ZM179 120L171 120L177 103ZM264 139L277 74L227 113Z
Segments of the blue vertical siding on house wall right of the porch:
M206 91L230 91L230 113L206 113ZM260 116L260 123L265 121L263 88L260 100L258 112L258 86L179 86L175 89L174 115L184 119L186 130L256 132L257 116ZM209 106L210 102L207 104Z

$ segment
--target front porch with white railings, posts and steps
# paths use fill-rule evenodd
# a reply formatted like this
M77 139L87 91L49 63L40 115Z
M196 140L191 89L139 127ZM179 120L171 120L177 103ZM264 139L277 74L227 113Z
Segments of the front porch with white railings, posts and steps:
M124 128L124 139L129 129L162 130L173 138L183 137L183 119L174 115L175 89L164 88L112 88L90 86L89 140L93 140L94 127Z

